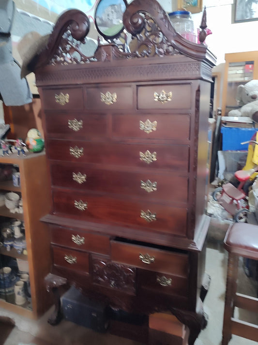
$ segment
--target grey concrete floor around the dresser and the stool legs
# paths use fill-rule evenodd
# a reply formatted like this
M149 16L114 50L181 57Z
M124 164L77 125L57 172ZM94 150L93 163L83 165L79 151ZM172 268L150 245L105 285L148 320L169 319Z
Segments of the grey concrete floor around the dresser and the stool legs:
M207 328L201 331L195 345L220 345L221 342L227 271L227 252L223 249L222 243L227 228L228 223L212 219L208 233L206 256L206 271L212 280L204 303L204 309L209 315L209 321ZM256 296L257 281L246 277L242 263L240 263L240 268L239 292ZM38 321L31 321L0 309L0 316L11 317L16 325L15 328L10 330L7 339L2 342L0 340L0 345L140 345L140 343L108 333L96 333L91 329L64 320L58 326L52 327L47 323L47 318L51 312L52 310L48 311ZM236 311L235 316L258 325L258 313L250 315L242 310ZM0 338L1 334L0 327ZM229 345L255 344L257 345L256 342L234 335L229 343Z

